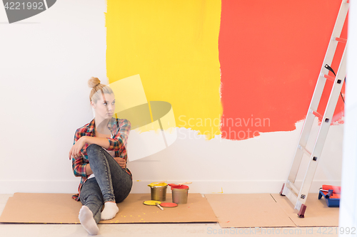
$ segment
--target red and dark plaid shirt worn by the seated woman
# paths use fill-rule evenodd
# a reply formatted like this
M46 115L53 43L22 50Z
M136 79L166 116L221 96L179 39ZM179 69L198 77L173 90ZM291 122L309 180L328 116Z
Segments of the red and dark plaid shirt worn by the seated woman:
M111 118L111 120L108 123L108 128L114 137L108 138L110 146L107 150L115 151L115 157L121 157L127 160L128 156L126 154L125 147L131 128L131 123L129 122L129 120L126 119ZM74 135L74 144L82 136L94 137L94 119L91 120L89 124L86 124L83 127L80 127L78 130L76 130L76 135ZM79 193L74 194L72 196L72 198L75 199L76 201L80 201L81 187L89 177L89 175L86 174L86 168L85 168L86 164L89 164L88 155L86 152L88 146L89 144L86 143L84 147L81 149L81 153L83 154L82 157L79 158L72 157L72 169L74 172L74 176L81 177L81 183L79 184L78 187ZM128 168L126 168L126 172L130 174L132 179L133 177Z

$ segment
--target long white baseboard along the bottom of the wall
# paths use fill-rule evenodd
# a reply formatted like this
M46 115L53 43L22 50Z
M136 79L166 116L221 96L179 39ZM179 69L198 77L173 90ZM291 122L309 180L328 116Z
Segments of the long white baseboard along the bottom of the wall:
M153 180L134 180L133 188L131 193L149 193L150 184ZM157 180L154 180L157 181ZM166 181L167 183L178 183L184 182L185 180L171 180ZM186 180L188 181L188 180ZM212 180L212 181L201 181L201 180L189 180L192 184L189 184L189 191L192 193L201 194L257 194L257 193L270 193L277 194L281 191L281 187L285 180L279 181L227 181L227 180ZM296 184L301 184L301 181L296 181ZM323 184L331 184L336 186L341 186L341 180L316 180L313 181L311 185L310 193L318 193L318 189L321 188ZM28 193L76 193L79 186L78 181L44 181L44 180L9 180L0 181L0 194L13 194L15 192L28 192ZM171 190L168 188L168 192Z

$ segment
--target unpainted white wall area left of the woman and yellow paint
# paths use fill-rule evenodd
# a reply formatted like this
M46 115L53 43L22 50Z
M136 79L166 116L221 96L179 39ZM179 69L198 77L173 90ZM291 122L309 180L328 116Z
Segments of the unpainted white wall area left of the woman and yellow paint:
M92 117L86 83L106 83L104 11L104 1L57 1L9 24L0 7L2 193L75 191L68 153Z

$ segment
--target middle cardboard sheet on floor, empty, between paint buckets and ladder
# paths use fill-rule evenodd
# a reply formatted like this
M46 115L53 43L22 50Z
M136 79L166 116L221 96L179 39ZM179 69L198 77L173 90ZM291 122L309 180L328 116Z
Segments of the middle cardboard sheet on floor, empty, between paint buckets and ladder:
M205 194L205 196L221 228L295 227L271 194Z

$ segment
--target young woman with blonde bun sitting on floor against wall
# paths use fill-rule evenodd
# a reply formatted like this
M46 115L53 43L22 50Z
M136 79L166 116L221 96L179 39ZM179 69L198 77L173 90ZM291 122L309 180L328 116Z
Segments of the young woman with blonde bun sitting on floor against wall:
M79 221L89 234L96 235L99 221L116 216L116 204L126 199L133 185L126 168L131 123L113 117L115 96L109 86L102 85L98 78L91 78L89 86L93 88L89 98L95 117L76 130L69 159L74 175L81 177L79 194L72 196L83 204Z

